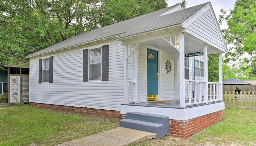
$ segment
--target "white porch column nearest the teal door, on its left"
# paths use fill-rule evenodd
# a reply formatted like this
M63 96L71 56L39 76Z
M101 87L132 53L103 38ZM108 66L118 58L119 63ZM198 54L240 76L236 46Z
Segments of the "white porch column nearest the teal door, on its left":
M133 51L133 81L135 82L134 98L139 103L139 45Z

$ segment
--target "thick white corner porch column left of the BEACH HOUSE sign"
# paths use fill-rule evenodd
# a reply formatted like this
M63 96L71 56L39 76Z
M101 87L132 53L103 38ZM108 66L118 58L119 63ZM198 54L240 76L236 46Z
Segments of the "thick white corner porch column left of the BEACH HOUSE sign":
M180 33L180 107L186 107L185 104L185 37Z

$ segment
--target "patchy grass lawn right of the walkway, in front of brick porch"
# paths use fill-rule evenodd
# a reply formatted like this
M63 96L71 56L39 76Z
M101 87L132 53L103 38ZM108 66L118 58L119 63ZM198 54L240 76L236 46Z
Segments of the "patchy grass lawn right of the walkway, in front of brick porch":
M165 136L133 146L204 146L204 145L256 145L256 112L225 109L224 120L191 136L189 139Z

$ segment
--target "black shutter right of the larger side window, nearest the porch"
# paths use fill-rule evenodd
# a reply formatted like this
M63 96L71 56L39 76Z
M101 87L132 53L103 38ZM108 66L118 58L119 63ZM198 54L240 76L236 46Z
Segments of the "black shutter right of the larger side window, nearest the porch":
M108 51L109 45L102 46L102 77L101 80L108 80Z

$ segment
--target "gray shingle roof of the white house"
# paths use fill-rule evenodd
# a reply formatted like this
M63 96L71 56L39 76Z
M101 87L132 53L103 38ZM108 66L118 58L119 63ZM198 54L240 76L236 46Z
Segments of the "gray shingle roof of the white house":
M173 5L149 14L141 15L139 17L135 17L135 18L125 20L119 23L115 23L112 25L108 25L99 29L78 34L69 39L56 43L48 48L45 48L41 51L35 52L27 57L66 48L66 47L71 47L74 45L94 41L97 39L115 36L118 34L120 36L118 36L116 39L148 32L156 29L165 28L167 26L181 24L183 21L188 19L195 12L199 11L202 7L204 7L208 3L209 2L200 4L197 6L189 7L184 10L176 11L167 15L159 16L160 14L163 14L164 12L177 6L177 5Z

